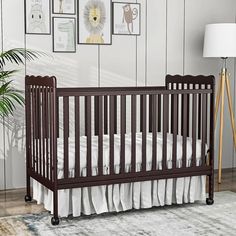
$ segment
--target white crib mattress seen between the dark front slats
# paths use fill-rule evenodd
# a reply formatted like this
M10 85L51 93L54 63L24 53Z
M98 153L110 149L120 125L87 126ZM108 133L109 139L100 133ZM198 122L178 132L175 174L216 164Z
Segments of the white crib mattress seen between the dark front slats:
M162 145L163 134L157 133L157 169L160 168L162 161ZM177 136L177 165L181 165L182 159L182 136ZM172 145L173 135L167 134L167 162L172 160ZM192 158L192 139L187 138L187 165ZM147 150L147 165L152 162L152 133L147 133L146 137L146 150ZM205 148L207 150L207 146ZM98 164L98 136L92 136L92 167L96 168ZM197 162L201 158L201 140L196 141L196 159ZM87 160L87 137L80 137L80 167L81 169L86 168ZM142 162L142 133L136 133L136 165ZM109 135L103 136L103 164L104 167L109 167ZM120 164L120 135L114 135L114 165L119 166ZM131 164L131 134L125 135L125 164L126 166ZM170 165L169 165L170 166ZM64 145L63 139L58 139L58 169L62 170L64 167ZM75 167L75 139L69 138L69 169L73 170Z

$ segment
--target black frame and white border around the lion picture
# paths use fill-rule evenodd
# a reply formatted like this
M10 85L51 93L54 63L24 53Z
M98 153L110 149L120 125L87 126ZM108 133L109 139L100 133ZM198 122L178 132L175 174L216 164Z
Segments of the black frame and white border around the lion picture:
M109 2L109 9L110 9L110 26L109 26L109 30L110 30L110 38L109 38L109 43L82 43L80 42L80 31L81 31L81 27L80 27L80 2L81 1L89 1L89 0L78 0L77 1L77 44L80 45L112 45L112 19L113 19L113 12L112 12L112 0L103 0L103 1L107 1Z

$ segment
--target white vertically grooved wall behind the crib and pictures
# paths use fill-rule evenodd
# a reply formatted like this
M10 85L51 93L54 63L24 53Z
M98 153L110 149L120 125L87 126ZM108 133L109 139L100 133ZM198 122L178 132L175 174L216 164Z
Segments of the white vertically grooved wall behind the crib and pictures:
M111 46L79 45L75 54L52 54L51 35L24 35L24 0L0 2L3 50L26 46L52 55L21 67L15 78L21 89L25 69L27 74L56 75L59 86L163 85L166 73L218 77L219 60L202 58L204 26L234 22L236 8L235 0L130 0L141 3L141 36L113 36ZM229 69L235 75L234 60L229 60ZM235 84L232 85L235 97ZM1 122L0 134L0 189L23 187L23 108L4 125ZM234 154L228 116L224 135L223 166L231 167Z

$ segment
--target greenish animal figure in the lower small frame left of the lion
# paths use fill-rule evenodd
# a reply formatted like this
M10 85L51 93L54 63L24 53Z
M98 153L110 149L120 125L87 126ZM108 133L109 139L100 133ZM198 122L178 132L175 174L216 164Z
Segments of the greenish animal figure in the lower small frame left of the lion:
M75 48L75 32L74 32L74 21L62 22L58 24L58 31L67 33L66 50L73 51Z

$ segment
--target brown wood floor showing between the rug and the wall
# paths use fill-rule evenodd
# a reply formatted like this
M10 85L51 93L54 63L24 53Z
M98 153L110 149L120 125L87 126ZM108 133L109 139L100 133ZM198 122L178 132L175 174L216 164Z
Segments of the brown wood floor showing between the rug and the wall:
M227 190L236 192L236 169L223 170L221 184L217 184L217 176L215 178L215 191ZM25 203L24 196L25 189L0 191L0 217L45 211L43 205L35 201Z

